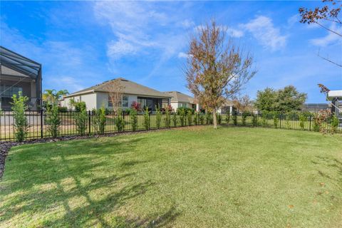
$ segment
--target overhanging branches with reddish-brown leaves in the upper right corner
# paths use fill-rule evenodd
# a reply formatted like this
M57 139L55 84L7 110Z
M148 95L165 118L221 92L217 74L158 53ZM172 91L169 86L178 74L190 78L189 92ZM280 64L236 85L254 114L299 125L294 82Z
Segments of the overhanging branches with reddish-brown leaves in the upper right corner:
M306 9L304 7L299 8L299 14L301 14L301 23L303 24L318 24L327 31L335 34L342 38L341 28L342 21L338 15L341 13L341 1L334 0L322 0L326 3L325 6L316 7L315 9ZM337 3L338 2L338 3ZM330 26L328 25L330 24ZM334 26L337 24L337 27ZM336 66L342 67L342 63L331 60L328 57L321 56L318 51L318 56L323 58L325 61L335 64Z

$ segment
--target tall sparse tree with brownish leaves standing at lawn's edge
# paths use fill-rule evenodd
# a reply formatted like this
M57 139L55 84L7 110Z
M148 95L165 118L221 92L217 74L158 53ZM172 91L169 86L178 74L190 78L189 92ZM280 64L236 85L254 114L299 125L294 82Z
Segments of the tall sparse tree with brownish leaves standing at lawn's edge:
M226 98L236 94L254 76L253 57L227 38L227 30L215 21L202 26L190 40L188 51L187 88L213 113Z

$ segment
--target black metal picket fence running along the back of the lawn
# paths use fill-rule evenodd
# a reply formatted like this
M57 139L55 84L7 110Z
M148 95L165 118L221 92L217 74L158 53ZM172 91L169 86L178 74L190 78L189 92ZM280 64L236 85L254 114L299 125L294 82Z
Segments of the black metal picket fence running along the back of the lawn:
M61 124L59 125L58 136L78 135L76 127L76 115L75 111L68 111L65 113L59 113L59 119ZM124 125L122 132L133 131L133 120L129 113L123 112L120 114L123 119ZM212 124L212 115L206 114L194 114L194 115L175 115L170 114L170 126L167 127L166 115L162 115L158 118L155 113L149 113L148 125L145 125L147 121L144 113L138 113L137 121L135 124L135 130L155 130L162 128L177 128L190 125L210 125ZM118 121L118 113L107 112L105 120L104 133L118 133L116 121ZM38 138L50 138L51 134L48 131L48 125L46 124L47 113L43 110L27 111L26 119L28 123L28 133L26 139L38 139ZM88 121L86 121L86 134L95 135L98 132L95 128L94 120L95 113L88 111ZM246 127L262 127L262 128L281 128L289 130L317 130L315 127L314 118L311 116L300 118L299 115L229 115L220 114L217 115L218 123L221 125L232 126L246 126ZM14 140L15 128L14 128L14 115L11 111L4 111L0 116L0 140ZM159 122L159 124L158 124ZM147 126L147 127L146 127ZM323 123L323 127L328 131L332 130L331 123ZM337 132L341 133L341 128L337 128Z

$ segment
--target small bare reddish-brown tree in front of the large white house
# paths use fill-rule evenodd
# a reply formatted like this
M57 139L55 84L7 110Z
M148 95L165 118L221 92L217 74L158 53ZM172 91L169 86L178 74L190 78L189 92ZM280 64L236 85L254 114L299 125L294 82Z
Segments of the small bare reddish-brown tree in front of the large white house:
M120 80L112 80L106 83L104 89L108 91L108 98L112 103L113 111L117 112L123 100L123 89Z

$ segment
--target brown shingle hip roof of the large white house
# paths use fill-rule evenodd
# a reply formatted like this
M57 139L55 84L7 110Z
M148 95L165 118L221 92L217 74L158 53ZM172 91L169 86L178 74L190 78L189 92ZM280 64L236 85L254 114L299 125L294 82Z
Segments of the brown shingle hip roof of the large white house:
M148 88L146 86L142 86L138 83L133 81L129 81L125 78L115 78L110 81L105 81L104 83L100 83L96 86L91 86L89 88L85 88L83 90L79 90L78 92L71 93L66 95L66 97L71 97L73 95L79 95L84 93L92 93L92 92L108 92L108 83L111 81L120 81L120 86L123 86L123 93L125 94L134 94L134 95L146 95L152 97L159 97L159 98L171 98L171 95L166 95L165 93L159 92L152 88Z

